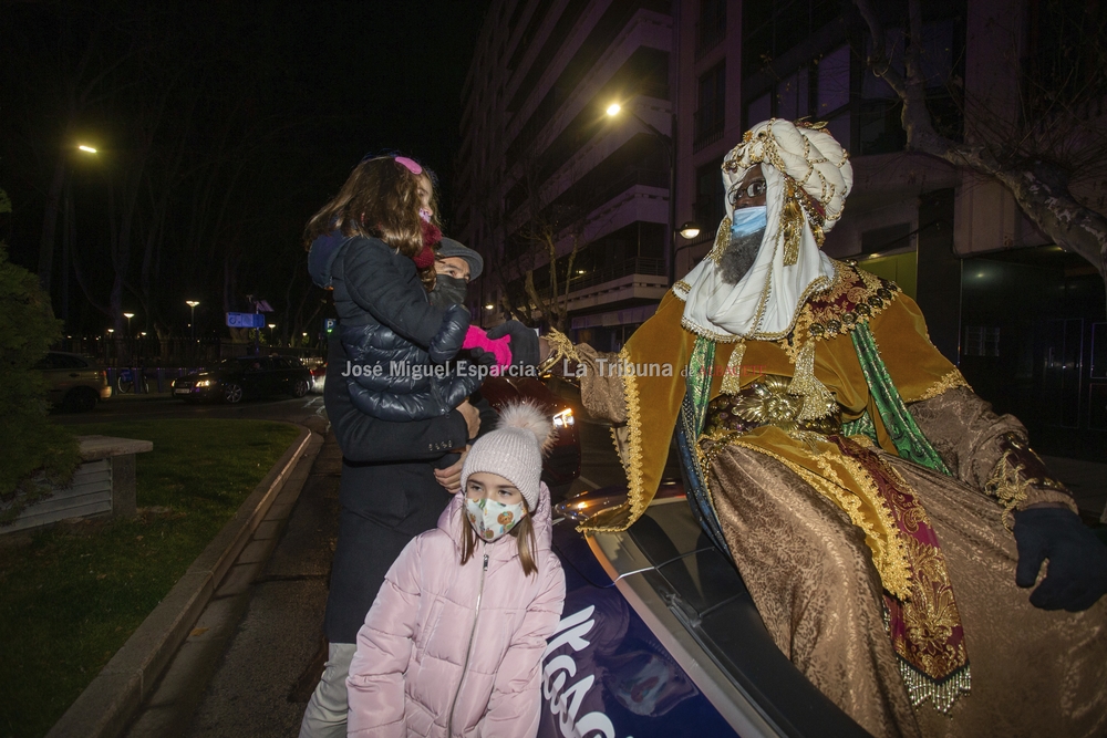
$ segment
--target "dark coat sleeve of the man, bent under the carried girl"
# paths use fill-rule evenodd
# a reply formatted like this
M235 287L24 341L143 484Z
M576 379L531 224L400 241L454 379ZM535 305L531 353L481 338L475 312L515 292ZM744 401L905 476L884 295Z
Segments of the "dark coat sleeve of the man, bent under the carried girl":
M365 415L350 401L342 371L346 355L338 339L330 342L323 401L342 456L350 461L427 461L467 440L465 418L451 410L428 420L391 423Z

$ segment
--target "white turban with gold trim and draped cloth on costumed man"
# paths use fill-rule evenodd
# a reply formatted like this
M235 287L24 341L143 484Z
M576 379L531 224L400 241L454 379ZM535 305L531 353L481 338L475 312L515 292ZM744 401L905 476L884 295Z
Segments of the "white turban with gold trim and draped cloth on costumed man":
M727 284L718 269L734 215L727 196L714 248L673 288L685 301L684 328L715 341L787 335L807 298L834 281L834 262L819 247L841 217L853 184L848 154L821 127L765 121L747 131L723 160L727 195L758 164L767 225L749 271L737 284Z

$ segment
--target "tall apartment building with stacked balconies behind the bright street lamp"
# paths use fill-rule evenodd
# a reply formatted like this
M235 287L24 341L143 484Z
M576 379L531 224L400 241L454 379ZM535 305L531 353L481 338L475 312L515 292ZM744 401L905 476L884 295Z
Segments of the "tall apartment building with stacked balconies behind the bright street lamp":
M544 297L557 289L567 302L567 329L613 349L671 283L671 10L492 3L463 90L455 187L456 231L489 264L474 284L486 324L529 300L530 271ZM612 103L619 115L606 112ZM552 243L538 242L551 231Z

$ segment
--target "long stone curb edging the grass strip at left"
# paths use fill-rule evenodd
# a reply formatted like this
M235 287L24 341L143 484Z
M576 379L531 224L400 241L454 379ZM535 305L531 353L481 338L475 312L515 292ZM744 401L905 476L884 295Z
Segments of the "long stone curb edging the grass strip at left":
M284 481L304 457L311 434L310 428L301 426L300 436L254 488L235 517L70 705L46 738L115 738L122 735L266 517Z

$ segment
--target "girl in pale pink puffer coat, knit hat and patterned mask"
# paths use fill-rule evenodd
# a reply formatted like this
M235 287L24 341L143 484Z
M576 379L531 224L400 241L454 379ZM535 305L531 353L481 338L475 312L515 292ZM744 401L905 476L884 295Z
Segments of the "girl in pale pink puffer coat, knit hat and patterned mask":
M348 735L538 732L542 653L565 604L539 479L551 435L523 403L473 445L464 493L400 554L358 633Z

